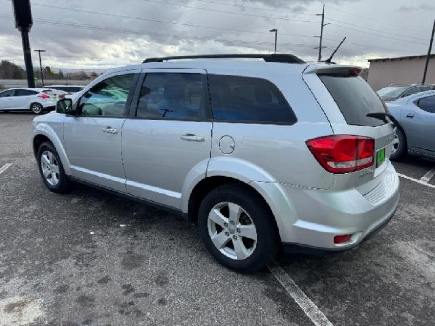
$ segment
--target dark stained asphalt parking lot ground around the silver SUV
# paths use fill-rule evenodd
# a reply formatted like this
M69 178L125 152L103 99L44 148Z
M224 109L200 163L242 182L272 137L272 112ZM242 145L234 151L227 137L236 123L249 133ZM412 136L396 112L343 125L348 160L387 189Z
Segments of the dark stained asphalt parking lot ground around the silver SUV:
M358 248L242 275L171 213L78 184L50 193L33 117L0 113L0 326L435 324L434 188L401 177L395 217ZM435 163L394 165L420 180Z

